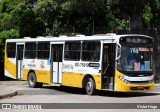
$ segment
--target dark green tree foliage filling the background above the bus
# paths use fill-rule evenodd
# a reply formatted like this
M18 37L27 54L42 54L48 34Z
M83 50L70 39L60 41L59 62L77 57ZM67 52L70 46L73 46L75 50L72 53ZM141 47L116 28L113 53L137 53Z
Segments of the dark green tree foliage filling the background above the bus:
M159 27L160 0L0 1L0 38Z

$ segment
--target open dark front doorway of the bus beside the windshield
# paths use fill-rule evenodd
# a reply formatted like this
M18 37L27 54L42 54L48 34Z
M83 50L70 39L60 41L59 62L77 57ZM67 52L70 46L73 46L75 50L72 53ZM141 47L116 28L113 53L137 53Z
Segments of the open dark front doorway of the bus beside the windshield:
M115 44L104 44L102 54L102 89L113 90L115 74Z

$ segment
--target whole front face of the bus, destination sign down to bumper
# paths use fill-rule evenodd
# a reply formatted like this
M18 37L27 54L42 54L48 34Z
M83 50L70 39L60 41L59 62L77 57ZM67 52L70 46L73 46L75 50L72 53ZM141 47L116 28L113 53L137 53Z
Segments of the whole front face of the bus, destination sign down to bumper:
M153 39L126 36L120 38L120 45L117 48L120 57L116 62L115 91L153 91Z

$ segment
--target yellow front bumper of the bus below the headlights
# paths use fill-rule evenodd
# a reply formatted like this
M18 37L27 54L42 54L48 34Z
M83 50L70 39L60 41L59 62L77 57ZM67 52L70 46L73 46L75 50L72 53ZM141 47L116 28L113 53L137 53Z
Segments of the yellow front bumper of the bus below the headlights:
M145 91L153 91L154 89L154 82L150 84L126 84L122 82L118 76L124 76L124 74L120 73L118 70L116 70L116 75L115 75L115 91L119 92L145 92ZM130 87L150 87L149 90L131 90Z

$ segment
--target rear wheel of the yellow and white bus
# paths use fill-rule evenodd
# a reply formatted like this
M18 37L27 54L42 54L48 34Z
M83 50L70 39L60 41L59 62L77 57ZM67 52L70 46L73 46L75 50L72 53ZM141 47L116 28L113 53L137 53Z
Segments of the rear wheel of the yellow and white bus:
M28 85L32 88L39 88L42 87L43 83L37 82L37 77L34 72L30 72L28 75Z

